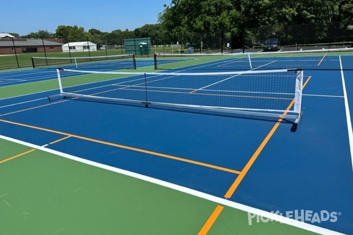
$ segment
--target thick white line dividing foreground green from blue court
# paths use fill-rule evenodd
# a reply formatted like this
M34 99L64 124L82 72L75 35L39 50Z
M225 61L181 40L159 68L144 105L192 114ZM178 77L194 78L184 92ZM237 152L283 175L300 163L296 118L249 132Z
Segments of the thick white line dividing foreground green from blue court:
M325 229L325 228L322 228L322 227L318 227L316 225L312 225L312 224L309 224L309 223L304 223L304 222L297 221L297 220L294 220L294 219L291 219L291 218L287 218L287 217L276 215L276 214L273 214L273 213L270 213L270 212L267 212L267 211L256 209L256 208L253 208L253 207L250 207L250 206L246 206L246 205L243 205L243 204L240 204L240 203L232 202L232 201L226 200L224 198L219 198L219 197L207 194L207 193L203 193L203 192L200 192L200 191L193 190L191 188L187 188L187 187L183 187L183 186L180 186L180 185L172 184L172 183L169 183L169 182L166 182L166 181L163 181L163 180L155 179L155 178L148 177L146 175L142 175L142 174L138 174L138 173L134 173L134 172L131 172L131 171L126 171L126 170L119 169L119 168L116 168L116 167L104 165L104 164L97 163L97 162L94 162L94 161L82 159L82 158L77 157L77 156L73 156L73 155L70 155L70 154L62 153L62 152L59 152L59 151L56 151L56 150L53 150L53 149L45 148L45 147L38 146L38 145L35 145L35 144L31 144L31 143L28 143L28 142L16 140L16 139L11 138L11 137L0 135L0 138L3 139L3 140L7 140L7 141L15 142L15 143L18 143L18 144L22 144L22 145L28 146L30 148L35 148L35 149L38 149L38 150L41 150L41 151L45 151L47 153L51 153L51 154L55 154L55 155L58 155L58 156L61 156L61 157L65 157L67 159L78 161L78 162L81 162L81 163L84 163L84 164L87 164L87 165L90 165L90 166L95 166L95 167L98 167L98 168L106 169L108 171L116 172L116 173L119 173L119 174L127 175L129 177L133 177L133 178L140 179L140 180L143 180L143 181L146 181L146 182L150 182L152 184L156 184L156 185L160 185L160 186L163 186L163 187L171 188L173 190L177 190L177 191L180 191L180 192L183 192L183 193L187 193L187 194L190 194L192 196L199 197L199 198L202 198L202 199L205 199L205 200L217 203L217 204L222 204L222 205L234 208L234 209L242 210L242 211L245 211L245 212L250 212L252 214L256 214L256 215L259 215L259 216L263 216L265 218L273 219L275 221L278 221L278 222L281 222L281 223L285 223L285 224L288 224L288 225L291 225L291 226L294 226L294 227L297 227L297 228L305 229L305 230L308 230L308 231L312 231L314 233L318 233L318 234L322 234L322 235L345 235L345 234L342 234L342 233L339 233L339 232L336 232L336 231L333 231L333 230L329 230L329 229Z

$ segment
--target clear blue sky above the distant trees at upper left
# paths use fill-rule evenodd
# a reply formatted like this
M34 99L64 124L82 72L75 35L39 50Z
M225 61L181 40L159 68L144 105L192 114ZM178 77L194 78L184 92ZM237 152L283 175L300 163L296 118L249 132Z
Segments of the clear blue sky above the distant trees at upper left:
M157 23L158 12L170 0L12 0L1 2L0 32L26 35L38 30L54 33L58 25L82 26L86 31L133 30Z

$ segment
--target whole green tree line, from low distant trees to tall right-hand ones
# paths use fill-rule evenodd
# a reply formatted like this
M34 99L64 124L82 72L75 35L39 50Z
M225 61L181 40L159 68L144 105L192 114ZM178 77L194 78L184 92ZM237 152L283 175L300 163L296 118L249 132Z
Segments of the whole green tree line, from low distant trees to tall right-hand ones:
M157 14L157 24L146 24L132 31L98 29L85 31L79 26L59 25L54 33L38 30L22 37L64 38L68 41L92 39L98 45L121 45L124 38L150 37L151 43L175 44L177 41L197 43L205 41L217 47L223 39L241 40L250 28L288 26L341 21L336 31L347 27L353 20L352 0L171 0ZM291 32L282 30L284 37ZM299 29L300 31L300 29ZM313 28L313 37L324 37L322 27ZM331 30L332 31L332 30ZM250 31L249 31L250 32ZM302 32L301 32L302 33ZM248 34L255 35L255 32ZM299 33L298 33L299 34ZM14 36L19 36L13 33ZM214 38L214 39L212 39ZM232 38L232 40L233 40Z

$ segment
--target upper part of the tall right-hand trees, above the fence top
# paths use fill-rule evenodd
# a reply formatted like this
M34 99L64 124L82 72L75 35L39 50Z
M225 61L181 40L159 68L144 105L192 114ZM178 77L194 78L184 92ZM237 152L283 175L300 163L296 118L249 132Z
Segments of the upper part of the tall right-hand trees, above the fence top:
M170 31L239 31L353 19L352 0L172 0L158 14Z

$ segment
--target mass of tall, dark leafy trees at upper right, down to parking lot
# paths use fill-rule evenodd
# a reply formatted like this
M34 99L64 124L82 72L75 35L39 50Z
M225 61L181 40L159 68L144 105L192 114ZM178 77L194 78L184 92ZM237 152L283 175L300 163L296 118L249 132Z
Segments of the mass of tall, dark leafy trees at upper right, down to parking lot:
M353 20L352 0L172 0L158 13L158 22L173 41L201 38L209 47L219 47L217 38L222 41L229 33L240 43L245 32L253 41L269 36L335 37L342 35L349 20Z

